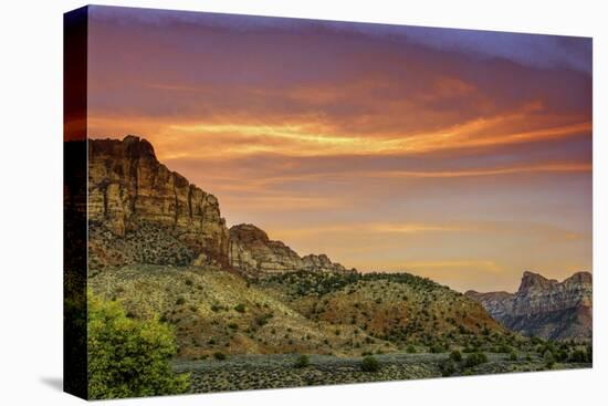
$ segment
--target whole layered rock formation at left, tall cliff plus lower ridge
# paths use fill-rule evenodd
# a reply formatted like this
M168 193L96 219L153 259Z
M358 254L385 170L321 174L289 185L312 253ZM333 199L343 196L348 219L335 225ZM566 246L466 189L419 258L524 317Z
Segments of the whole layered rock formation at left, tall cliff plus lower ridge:
M252 225L228 230L218 199L156 158L136 136L88 140L90 267L214 263L249 275L345 272L325 254L301 258Z

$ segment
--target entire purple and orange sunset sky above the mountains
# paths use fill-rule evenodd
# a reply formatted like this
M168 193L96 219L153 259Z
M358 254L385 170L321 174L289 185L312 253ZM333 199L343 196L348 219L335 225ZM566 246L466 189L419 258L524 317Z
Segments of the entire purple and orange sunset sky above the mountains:
M591 127L586 38L90 8L90 137L359 271L591 271Z

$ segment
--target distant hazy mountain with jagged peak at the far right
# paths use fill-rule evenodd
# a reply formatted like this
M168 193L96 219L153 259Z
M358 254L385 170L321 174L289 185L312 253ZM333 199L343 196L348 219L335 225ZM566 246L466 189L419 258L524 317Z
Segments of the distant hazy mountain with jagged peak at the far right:
M507 329L552 340L591 339L593 277L578 272L563 282L524 272L515 293L469 291Z

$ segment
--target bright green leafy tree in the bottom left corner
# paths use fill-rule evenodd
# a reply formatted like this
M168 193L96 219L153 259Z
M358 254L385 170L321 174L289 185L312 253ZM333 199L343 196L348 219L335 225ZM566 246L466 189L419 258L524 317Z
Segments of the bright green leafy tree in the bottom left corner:
M189 387L170 360L174 333L157 319L128 319L119 302L88 292L88 397L92 399L171 395Z

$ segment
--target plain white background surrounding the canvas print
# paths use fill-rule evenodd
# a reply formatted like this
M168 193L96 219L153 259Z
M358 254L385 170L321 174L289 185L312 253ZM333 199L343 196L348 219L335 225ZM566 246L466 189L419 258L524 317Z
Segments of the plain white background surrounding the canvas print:
M104 4L594 37L593 371L119 400L124 405L600 404L606 344L608 112L604 1L99 1ZM81 1L2 2L0 404L72 405L62 376L62 13ZM604 19L602 19L604 17ZM604 25L604 27L602 27ZM604 114L604 115L602 115ZM604 187L602 187L604 186ZM602 250L604 249L604 250ZM601 377L604 376L604 379ZM604 384L606 386L606 384ZM606 400L604 399L604 404ZM102 402L99 404L105 404Z

